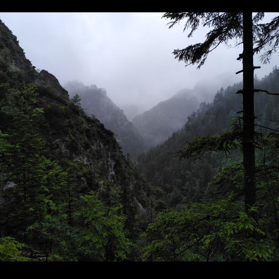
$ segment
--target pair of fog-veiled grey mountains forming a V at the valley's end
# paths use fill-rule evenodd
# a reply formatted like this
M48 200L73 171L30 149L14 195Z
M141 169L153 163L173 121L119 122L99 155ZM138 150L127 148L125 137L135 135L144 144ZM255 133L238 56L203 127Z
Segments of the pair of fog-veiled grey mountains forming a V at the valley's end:
M223 83L229 78L224 74ZM106 89L96 85L86 86L79 81L71 81L64 88L71 97L80 95L85 112L89 116L93 114L106 128L112 130L124 154L129 153L134 160L142 152L167 140L185 125L188 117L198 109L199 103L210 102L217 91L216 84L200 82L193 89L182 89L150 110L137 114L143 111L143 107L126 105L124 113L108 97Z

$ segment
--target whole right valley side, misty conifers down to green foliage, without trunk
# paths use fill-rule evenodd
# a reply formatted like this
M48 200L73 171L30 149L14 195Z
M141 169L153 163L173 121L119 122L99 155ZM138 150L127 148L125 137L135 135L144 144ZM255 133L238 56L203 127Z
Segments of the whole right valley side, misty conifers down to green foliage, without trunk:
M256 88L279 91L279 69L259 81ZM242 104L235 94L242 84L221 88L212 103L201 103L185 126L162 145L138 158L138 172L153 185L157 221L149 226L145 260L267 260L278 253L278 166L279 98L258 93L255 97L257 133L257 189L260 200L253 208L259 218L255 226L243 212L243 166L241 150L209 152L221 136L241 127L237 112ZM239 126L240 125L240 126ZM262 127L261 127L262 126ZM268 126L273 129L266 129ZM262 135L262 132L266 132ZM273 134L274 133L274 134ZM195 157L180 159L192 142ZM240 144L233 148L239 148ZM190 145L188 145L189 147ZM197 154L200 147L200 153ZM221 147L220 147L221 149ZM223 146L222 146L223 149ZM264 235L255 241L250 233ZM271 256L272 254L272 256Z

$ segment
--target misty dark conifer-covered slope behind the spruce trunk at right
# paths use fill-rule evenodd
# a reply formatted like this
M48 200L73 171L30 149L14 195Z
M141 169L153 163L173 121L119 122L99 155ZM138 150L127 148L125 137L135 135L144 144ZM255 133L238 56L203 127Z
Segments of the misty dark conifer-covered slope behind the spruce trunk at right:
M279 91L279 69L261 81L255 80L255 88ZM210 152L201 158L179 160L177 150L187 146L187 142L196 136L218 135L230 127L230 121L242 110L242 99L235 94L242 84L228 86L217 92L212 103L201 103L199 109L192 113L186 124L164 143L152 148L138 158L138 172L143 173L154 186L162 189L159 196L167 206L181 208L180 203L195 200L206 193L207 184L221 167L230 162L241 163L239 151L232 154ZM257 125L278 130L279 98L265 93L255 94L255 115ZM256 127L258 131L267 131Z

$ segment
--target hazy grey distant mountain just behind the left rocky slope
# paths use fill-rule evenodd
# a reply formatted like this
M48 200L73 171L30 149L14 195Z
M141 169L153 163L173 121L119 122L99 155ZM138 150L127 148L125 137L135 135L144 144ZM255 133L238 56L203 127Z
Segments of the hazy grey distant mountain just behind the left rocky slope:
M131 158L145 150L145 143L134 125L127 120L123 110L107 96L106 90L96 85L85 86L81 82L71 81L64 85L70 96L75 94L81 97L81 106L88 115L94 115L101 123L115 134L116 140Z

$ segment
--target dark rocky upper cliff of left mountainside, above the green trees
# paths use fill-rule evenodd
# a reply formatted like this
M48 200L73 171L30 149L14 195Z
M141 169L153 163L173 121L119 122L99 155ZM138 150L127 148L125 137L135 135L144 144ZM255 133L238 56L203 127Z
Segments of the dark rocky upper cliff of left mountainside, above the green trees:
M0 21L1 82L20 88L28 82L37 85L46 125L42 133L49 148L61 158L80 162L107 178L114 163L114 172L125 165L125 157L113 133L96 118L69 101L67 91L47 71L38 73L25 58L17 38Z

